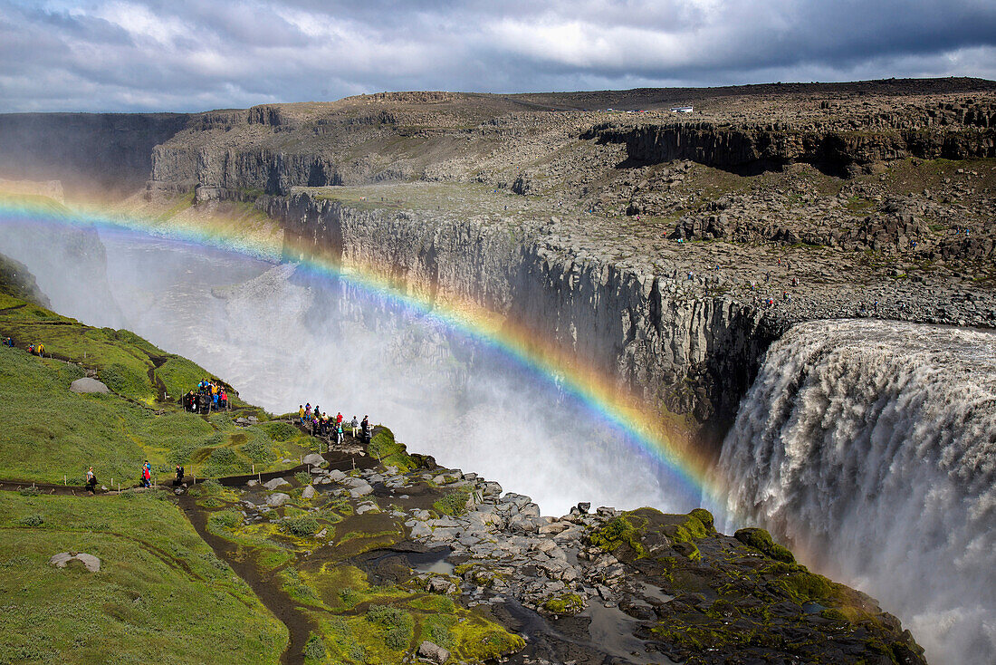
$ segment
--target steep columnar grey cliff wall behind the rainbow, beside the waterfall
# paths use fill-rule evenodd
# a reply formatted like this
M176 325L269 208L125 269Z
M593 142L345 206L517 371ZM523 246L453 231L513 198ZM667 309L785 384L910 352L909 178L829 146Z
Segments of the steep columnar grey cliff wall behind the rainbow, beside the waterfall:
M677 295L675 279L566 251L536 229L363 210L298 192L268 201L289 260L327 252L373 265L433 302L505 315L715 444L782 326L723 297ZM309 249L310 248L310 249Z

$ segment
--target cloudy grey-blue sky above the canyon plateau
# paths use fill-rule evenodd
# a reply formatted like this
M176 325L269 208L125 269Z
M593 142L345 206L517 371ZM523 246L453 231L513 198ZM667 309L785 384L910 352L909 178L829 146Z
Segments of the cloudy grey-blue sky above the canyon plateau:
M0 0L0 112L996 79L994 0Z

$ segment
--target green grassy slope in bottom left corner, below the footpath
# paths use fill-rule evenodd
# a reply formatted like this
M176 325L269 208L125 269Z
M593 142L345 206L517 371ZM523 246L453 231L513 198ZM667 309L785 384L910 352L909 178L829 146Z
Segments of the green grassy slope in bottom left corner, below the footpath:
M0 663L274 663L284 649L283 624L168 500L0 493L0 513ZM100 571L49 564L65 551Z

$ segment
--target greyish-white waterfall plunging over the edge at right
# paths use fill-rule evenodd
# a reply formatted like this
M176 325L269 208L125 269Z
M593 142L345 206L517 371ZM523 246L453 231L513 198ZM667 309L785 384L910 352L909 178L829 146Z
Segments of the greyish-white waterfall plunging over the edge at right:
M996 334L797 326L720 470L729 508L868 591L930 662L996 662Z

